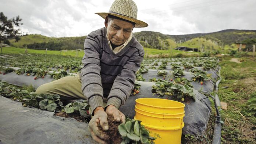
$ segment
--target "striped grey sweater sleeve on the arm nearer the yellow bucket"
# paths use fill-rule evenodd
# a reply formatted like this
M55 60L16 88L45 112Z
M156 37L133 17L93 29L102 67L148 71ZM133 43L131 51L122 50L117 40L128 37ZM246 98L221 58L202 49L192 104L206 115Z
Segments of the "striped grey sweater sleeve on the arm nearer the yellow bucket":
M141 53L141 54L140 54ZM129 98L131 91L134 88L136 71L138 71L143 60L144 50L139 52L139 55L133 55L124 65L121 73L115 78L113 86L108 96L107 105L114 105L119 108L125 104ZM105 108L106 108L105 107Z

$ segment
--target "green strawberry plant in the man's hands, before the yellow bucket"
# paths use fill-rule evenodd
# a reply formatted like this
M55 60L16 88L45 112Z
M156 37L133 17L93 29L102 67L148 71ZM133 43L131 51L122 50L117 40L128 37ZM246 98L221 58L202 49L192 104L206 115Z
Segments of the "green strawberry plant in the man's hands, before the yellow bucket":
M118 132L122 136L121 144L154 144L154 140L160 137L158 134L155 134L156 137L149 136L150 132L141 125L141 121L131 119L119 125Z

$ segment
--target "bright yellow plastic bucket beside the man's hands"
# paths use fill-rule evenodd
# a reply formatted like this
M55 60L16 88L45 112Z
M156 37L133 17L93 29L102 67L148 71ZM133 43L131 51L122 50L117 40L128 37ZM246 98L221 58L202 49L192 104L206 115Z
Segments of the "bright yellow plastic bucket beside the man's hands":
M141 120L154 136L159 134L156 144L180 144L184 127L185 105L178 101L160 98L138 98L135 100L135 117Z

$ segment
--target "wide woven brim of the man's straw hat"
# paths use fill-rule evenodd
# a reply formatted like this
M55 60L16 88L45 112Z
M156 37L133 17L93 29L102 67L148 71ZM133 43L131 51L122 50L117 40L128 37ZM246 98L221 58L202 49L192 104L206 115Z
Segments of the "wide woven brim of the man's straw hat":
M99 15L100 17L102 17L104 19L106 18L106 16L108 14L110 14L110 15L114 15L115 17L126 19L126 20L131 21L131 22L135 22L135 28L145 28L145 27L148 26L148 24L146 22L140 21L140 20L135 19L135 18L127 17L125 15L113 14L113 13L109 13L109 12L96 12L95 14Z

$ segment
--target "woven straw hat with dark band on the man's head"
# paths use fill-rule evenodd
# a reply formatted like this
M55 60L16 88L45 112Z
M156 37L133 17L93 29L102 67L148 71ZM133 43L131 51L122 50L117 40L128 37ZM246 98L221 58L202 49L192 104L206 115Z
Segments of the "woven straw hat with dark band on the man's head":
M96 12L102 18L106 18L108 14L114 15L131 22L135 22L135 28L144 28L148 24L137 19L137 6L132 0L115 0L110 7L109 12Z

